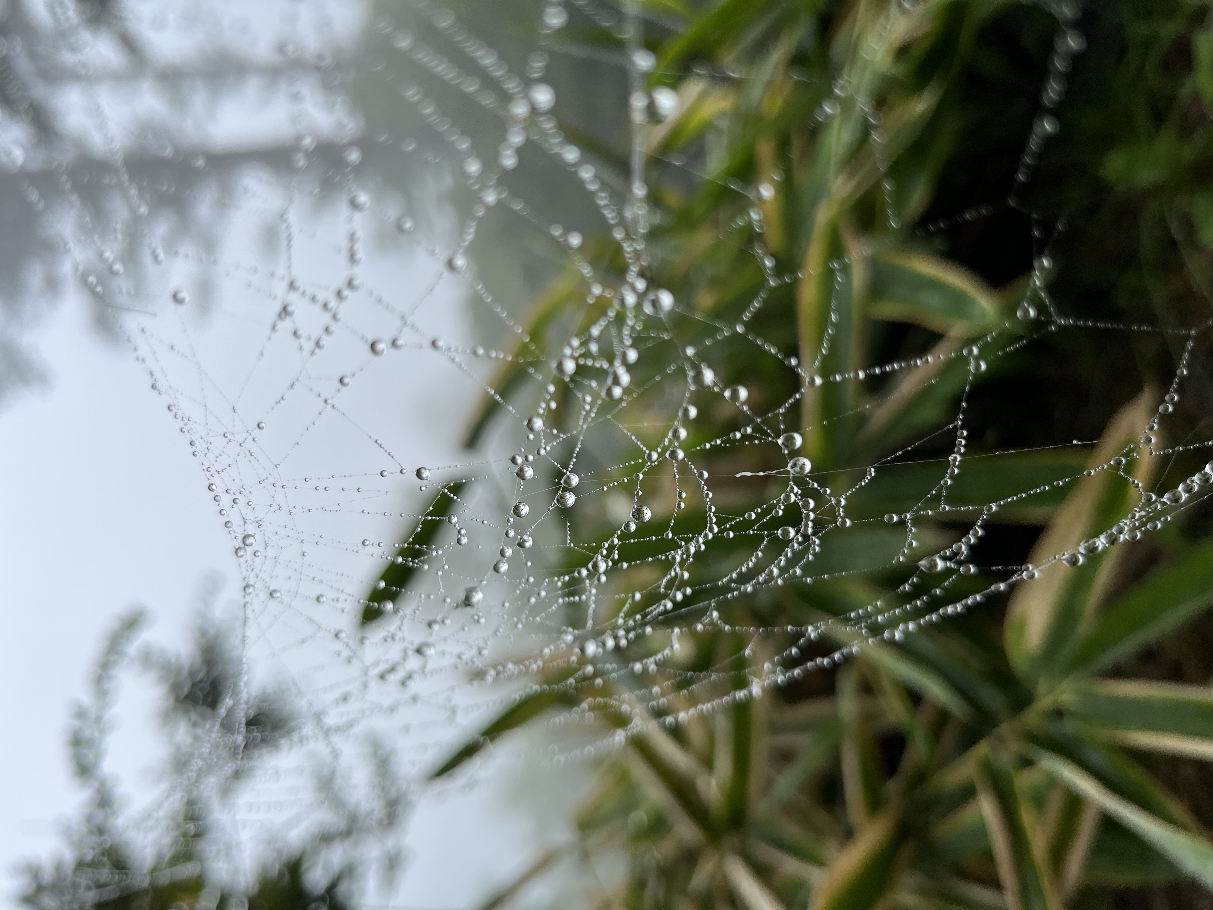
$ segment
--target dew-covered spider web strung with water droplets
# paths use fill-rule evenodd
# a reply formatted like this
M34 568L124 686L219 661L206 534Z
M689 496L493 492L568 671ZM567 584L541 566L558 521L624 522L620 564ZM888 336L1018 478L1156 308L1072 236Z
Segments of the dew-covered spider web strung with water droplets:
M784 268L767 206L782 171L751 184L655 141L694 92L769 75L699 61L662 70L639 7L519 5L528 25L505 34L503 13L475 4L459 15L428 0L154 6L127 7L120 39L49 4L45 46L10 46L6 59L44 81L73 74L62 103L87 126L50 141L7 118L0 147L30 217L129 340L197 459L198 495L213 501L239 576L240 660L250 676L289 679L303 751L355 763L354 744L375 734L400 744L404 779L420 783L488 718L554 693L576 698L549 701L536 723L562 736L518 747L528 761L586 762L1137 540L1213 480L1155 489L1141 470L1207 442L1172 444L1167 423L1208 324L1071 315L1049 291L1064 217L1025 217L1032 271L979 330L831 369L856 343L845 336L855 267L896 262L885 254L906 239L896 212L910 190L885 175L879 235ZM890 2L873 34L892 42L932 6ZM997 217L1030 184L1084 46L1077 8L1044 8L1055 51L1012 186L911 239ZM611 42L579 42L591 29ZM124 41L144 51L132 63ZM882 53L873 39L871 57ZM254 70L252 84L198 101L173 79L224 78L199 72L204 59ZM167 61L173 79L141 76ZM592 84L573 83L577 73ZM653 87L654 74L683 87ZM809 118L825 132L864 112L859 146L883 174L893 127L865 95L872 85L839 79ZM626 135L626 166L565 135L564 116ZM260 133L269 152L247 138ZM64 158L72 143L76 160ZM735 314L662 284L668 263L650 241L662 175L687 192L714 182L727 200L711 244L761 273ZM814 281L827 291L820 331L798 347L765 337L769 308L795 319L781 301ZM1179 351L1173 382L1126 405L1103 440L1075 440L1050 474L1016 467L1042 454L1031 447L970 451L967 408L983 375L1066 332L1166 335ZM814 440L833 426L894 415L900 399L949 382L947 413L893 451L822 466ZM831 396L852 409L815 417ZM967 482L983 461L1007 465L998 483ZM1030 563L984 546L1000 511L1048 506L1099 474L1131 490L1127 517ZM901 571L894 595L803 624L741 609L890 570ZM735 655L679 664L688 641L718 630L746 656L763 643L744 684ZM228 704L238 718L243 698ZM630 721L599 723L606 709ZM255 779L250 817L304 812L284 780Z

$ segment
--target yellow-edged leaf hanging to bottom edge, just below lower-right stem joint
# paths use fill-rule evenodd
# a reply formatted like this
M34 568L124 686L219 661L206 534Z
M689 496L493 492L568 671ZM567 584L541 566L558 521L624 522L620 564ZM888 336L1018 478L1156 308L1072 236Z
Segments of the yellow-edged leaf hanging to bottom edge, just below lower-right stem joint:
M1014 768L1003 756L983 756L973 781L1007 904L1012 910L1060 910L1040 820Z

